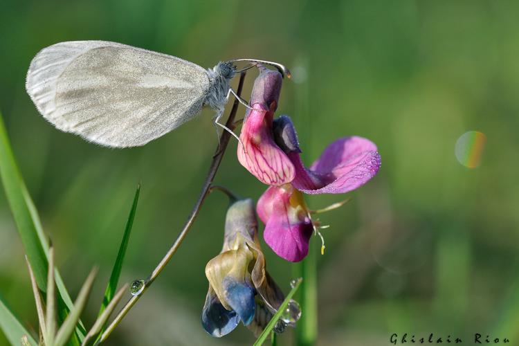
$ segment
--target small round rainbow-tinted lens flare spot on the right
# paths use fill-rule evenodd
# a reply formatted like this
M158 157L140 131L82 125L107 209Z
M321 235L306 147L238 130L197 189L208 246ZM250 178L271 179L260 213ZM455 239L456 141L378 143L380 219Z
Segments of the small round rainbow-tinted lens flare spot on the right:
M459 136L454 153L457 161L468 168L480 165L486 136L480 131L468 131Z

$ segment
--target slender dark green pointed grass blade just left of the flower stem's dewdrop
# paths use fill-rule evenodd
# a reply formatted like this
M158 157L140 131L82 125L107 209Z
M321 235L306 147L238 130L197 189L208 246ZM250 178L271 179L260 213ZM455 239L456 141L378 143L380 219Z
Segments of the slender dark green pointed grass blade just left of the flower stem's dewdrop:
M135 192L134 203L131 205L131 210L128 216L128 221L126 223L125 233L122 235L122 241L119 246L119 252L117 254L116 262L113 264L113 268L110 275L110 280L108 282L108 286L106 291L104 291L104 298L102 300L101 309L99 311L99 315L101 316L104 309L109 304L110 300L113 298L113 294L116 293L117 284L119 282L120 271L122 268L122 261L125 260L126 249L128 247L129 236L131 233L131 226L134 225L135 212L137 210L137 202L140 194L140 184L137 186L137 190Z

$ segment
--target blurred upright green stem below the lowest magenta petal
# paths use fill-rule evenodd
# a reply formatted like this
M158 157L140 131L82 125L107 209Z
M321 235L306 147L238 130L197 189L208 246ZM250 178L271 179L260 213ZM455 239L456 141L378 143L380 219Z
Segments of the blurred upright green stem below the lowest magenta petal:
M298 346L317 343L317 251L316 246L310 246L307 258L295 265L295 275L303 278L299 290L302 314L295 327L295 345Z

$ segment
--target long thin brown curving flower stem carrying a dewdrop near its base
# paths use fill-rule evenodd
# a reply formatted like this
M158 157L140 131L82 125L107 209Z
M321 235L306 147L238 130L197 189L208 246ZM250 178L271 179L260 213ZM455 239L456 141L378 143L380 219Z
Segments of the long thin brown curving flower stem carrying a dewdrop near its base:
M239 84L237 89L237 95L240 95L242 93L243 85L244 85L244 79L245 79L245 72L242 72L239 76ZM233 130L235 129L234 121L235 116L238 111L238 100L236 99L233 108L230 110L229 117L226 122L226 127ZM185 224L179 234L178 237L176 237L175 242L171 246L170 250L167 251L167 253L162 258L161 262L158 262L157 266L154 268L152 273L149 275L147 280L145 281L145 285L143 288L143 291L138 294L131 297L124 307L119 311L117 316L113 319L111 324L107 327L107 329L104 331L104 333L101 336L100 342L103 342L108 338L108 336L111 334L113 329L117 327L117 325L120 323L122 318L125 317L125 315L128 313L128 311L131 309L131 307L134 306L134 304L139 300L139 298L145 293L145 291L148 289L148 287L154 282L156 277L163 271L165 266L168 262L170 262L171 257L173 257L174 253L178 250L180 244L182 243L185 236L188 234L192 224L194 223L194 219L197 218L197 215L200 212L201 206L203 204L203 201L206 199L208 195L208 191L211 187L213 179L215 179L215 175L218 171L218 167L221 163L221 159L224 158L224 154L227 148L227 145L230 140L230 134L228 131L223 131L220 136L219 146L216 149L215 156L212 157L211 165L209 167L209 172L206 176L206 180L203 182L202 190L199 194L199 198L197 199L197 202L194 203L194 207L188 217L188 221L185 221Z

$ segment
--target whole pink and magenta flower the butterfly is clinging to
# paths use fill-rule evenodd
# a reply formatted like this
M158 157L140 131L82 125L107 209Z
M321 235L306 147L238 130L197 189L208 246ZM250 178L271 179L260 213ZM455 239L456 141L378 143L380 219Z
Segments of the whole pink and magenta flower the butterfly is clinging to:
M257 179L271 185L257 204L265 224L265 242L280 257L298 262L308 253L312 230L317 230L301 192L339 194L355 190L379 171L381 157L370 140L343 137L305 167L291 119L281 116L273 120L280 87L277 71L264 69L255 80L253 109L244 118L240 135L244 148L239 146L238 158Z

